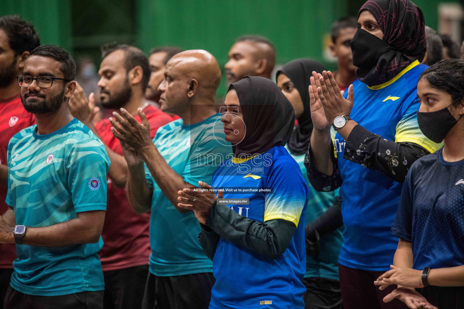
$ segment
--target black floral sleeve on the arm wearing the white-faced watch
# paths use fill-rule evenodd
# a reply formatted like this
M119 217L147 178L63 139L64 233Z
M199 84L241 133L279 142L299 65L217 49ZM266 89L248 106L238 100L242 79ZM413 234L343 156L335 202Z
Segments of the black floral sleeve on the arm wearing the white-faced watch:
M343 158L371 170L379 170L402 183L414 161L429 153L416 143L395 143L357 125L348 136Z

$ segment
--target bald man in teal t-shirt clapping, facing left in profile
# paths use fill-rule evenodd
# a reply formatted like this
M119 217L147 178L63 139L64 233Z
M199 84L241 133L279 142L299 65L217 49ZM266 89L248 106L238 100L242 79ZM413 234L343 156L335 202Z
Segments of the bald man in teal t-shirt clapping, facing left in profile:
M232 155L214 107L220 79L218 62L209 52L180 52L166 63L158 87L161 110L180 119L158 129L153 141L142 110L142 123L123 108L110 119L129 168L131 207L140 214L151 211L143 309L208 308L213 264L198 241L195 215L178 208L177 192L198 187L199 181L211 183L218 165Z

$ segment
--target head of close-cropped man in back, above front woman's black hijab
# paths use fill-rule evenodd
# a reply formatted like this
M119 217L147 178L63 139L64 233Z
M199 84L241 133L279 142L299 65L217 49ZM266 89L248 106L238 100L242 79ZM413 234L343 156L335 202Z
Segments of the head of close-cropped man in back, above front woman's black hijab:
M229 51L226 68L227 87L245 76L271 79L276 65L276 49L267 39L258 35L239 37Z

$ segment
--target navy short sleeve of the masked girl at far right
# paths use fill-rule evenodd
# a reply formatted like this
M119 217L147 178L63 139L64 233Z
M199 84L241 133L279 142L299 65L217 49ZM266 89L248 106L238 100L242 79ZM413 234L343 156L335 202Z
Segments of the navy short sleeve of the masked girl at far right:
M412 170L412 169L411 169ZM412 233L412 185L411 185L411 170L409 170L403 190L401 191L400 204L396 212L395 220L392 225L392 233L394 236L411 242Z

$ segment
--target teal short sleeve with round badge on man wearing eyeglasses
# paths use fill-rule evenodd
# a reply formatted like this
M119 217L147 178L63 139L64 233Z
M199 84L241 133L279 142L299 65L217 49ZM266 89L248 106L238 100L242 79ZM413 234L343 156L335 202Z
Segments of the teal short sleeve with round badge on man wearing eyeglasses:
M103 144L96 139L83 140L73 145L68 158L68 187L76 213L106 210L110 159Z

